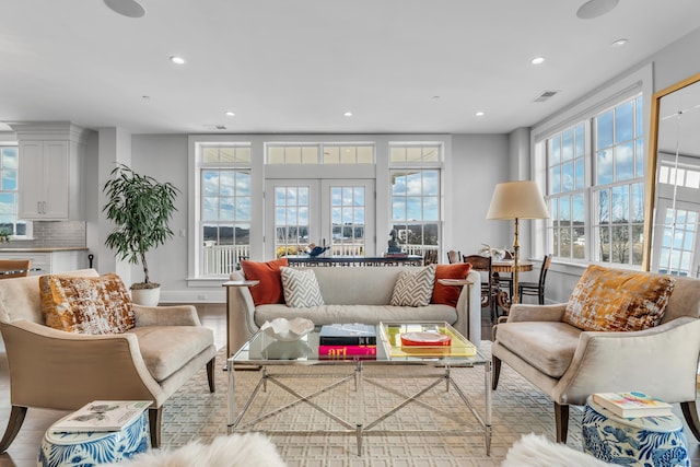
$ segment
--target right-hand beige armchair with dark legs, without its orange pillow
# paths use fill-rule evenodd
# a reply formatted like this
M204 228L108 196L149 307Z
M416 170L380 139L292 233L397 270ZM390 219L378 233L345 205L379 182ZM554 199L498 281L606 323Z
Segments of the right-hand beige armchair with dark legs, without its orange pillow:
M555 402L557 441L565 443L569 406L593 393L642 390L680 407L696 439L700 355L700 279L676 278L662 323L645 330L581 331L562 322L565 303L513 305L493 327L493 389L501 362Z

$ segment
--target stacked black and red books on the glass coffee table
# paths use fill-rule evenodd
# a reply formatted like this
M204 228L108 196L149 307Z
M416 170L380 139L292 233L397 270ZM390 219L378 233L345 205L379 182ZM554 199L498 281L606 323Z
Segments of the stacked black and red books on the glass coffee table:
M374 325L324 325L318 334L322 360L376 360Z

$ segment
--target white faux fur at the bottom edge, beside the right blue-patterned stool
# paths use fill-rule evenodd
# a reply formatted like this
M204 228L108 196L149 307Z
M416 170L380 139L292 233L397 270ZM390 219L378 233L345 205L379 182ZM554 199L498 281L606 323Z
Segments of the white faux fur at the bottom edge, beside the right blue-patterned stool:
M598 460L565 444L552 443L540 434L526 434L505 455L501 467L607 467Z

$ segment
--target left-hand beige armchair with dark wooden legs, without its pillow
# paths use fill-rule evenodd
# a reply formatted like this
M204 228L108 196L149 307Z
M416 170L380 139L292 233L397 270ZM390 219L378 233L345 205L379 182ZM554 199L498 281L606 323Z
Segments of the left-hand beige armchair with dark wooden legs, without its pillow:
M63 276L96 277L94 269ZM133 305L136 327L84 335L44 325L38 277L0 281L0 330L10 367L12 410L0 441L7 451L27 408L75 410L91 400L152 400L151 444L161 444L165 400L205 364L214 392L213 330L192 306Z

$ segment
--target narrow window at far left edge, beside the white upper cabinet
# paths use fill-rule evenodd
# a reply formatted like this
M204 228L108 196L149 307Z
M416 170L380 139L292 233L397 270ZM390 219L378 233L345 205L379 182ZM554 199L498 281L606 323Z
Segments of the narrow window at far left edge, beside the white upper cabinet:
M16 144L0 145L0 229L13 237L28 234L27 223L18 220L18 163Z

